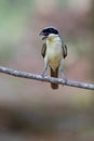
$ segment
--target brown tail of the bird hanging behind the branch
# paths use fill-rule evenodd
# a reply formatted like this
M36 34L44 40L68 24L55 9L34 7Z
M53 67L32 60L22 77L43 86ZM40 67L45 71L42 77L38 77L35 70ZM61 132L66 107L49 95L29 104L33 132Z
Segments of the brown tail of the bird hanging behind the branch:
M56 77L56 78L58 77L58 67L55 70L53 70L51 68L51 77ZM58 89L58 84L51 82L51 88L52 89Z

